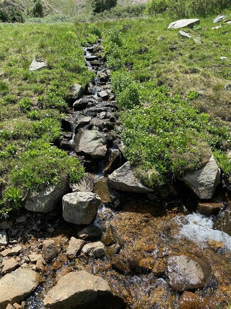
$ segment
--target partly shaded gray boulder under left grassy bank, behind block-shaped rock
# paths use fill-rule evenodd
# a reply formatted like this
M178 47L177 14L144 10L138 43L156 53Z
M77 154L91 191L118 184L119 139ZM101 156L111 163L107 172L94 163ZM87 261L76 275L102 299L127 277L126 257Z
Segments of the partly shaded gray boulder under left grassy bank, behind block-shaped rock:
M25 203L25 208L34 212L47 213L56 208L62 197L69 192L68 177L65 177L58 185L34 193Z

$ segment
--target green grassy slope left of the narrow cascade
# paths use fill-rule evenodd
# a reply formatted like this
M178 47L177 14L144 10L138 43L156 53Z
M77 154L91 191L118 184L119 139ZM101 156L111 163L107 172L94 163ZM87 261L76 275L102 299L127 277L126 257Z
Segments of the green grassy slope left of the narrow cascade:
M71 24L0 24L0 214L18 206L31 191L58 183L64 173L78 181L84 171L54 143L73 83L92 79L81 44L86 26ZM88 41L87 41L88 40ZM29 71L35 56L49 69ZM19 198L20 197L20 198Z

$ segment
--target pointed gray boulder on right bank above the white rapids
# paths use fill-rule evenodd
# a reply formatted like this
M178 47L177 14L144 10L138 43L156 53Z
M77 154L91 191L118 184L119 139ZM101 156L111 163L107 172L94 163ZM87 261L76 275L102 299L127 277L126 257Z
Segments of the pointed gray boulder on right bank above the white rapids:
M214 157L200 170L187 173L179 178L197 195L199 199L212 199L216 186L220 183L220 169Z

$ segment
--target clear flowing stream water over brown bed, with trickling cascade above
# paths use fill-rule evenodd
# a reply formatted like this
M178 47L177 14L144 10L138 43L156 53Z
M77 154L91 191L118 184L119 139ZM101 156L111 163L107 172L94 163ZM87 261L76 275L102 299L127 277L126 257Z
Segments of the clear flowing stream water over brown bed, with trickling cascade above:
M100 51L100 42L96 46L83 49L86 59L94 56L92 51ZM105 72L103 62L94 66L86 60L86 65L96 74ZM109 72L108 72L109 73ZM100 99L98 92L110 87L110 79L107 83L100 83L95 78L91 85L90 94L84 98L96 100L95 110L106 106L108 102ZM109 88L108 88L109 89ZM108 105L108 110L115 118L116 104L113 101ZM84 111L70 111L70 116L75 119L81 114L94 115L92 106ZM110 117L110 116L109 116ZM110 120L111 121L111 120ZM116 121L116 118L114 119ZM75 126L72 125L71 145L74 145ZM105 130L109 134L111 130ZM109 143L109 148L114 152L118 147L118 139ZM70 155L75 155L73 149ZM120 165L122 162L120 162ZM91 165L91 162L90 162ZM103 170L105 161L94 165L88 174L96 182L104 179ZM86 165L89 168L89 165ZM90 166L91 168L91 166ZM117 203L101 204L94 224L104 232L109 225L120 236L123 243L114 257L107 256L102 259L86 258L80 255L77 259L68 260L65 250L71 236L77 235L77 227L63 221L58 214L59 221L54 224L52 239L60 247L58 257L42 275L42 282L37 290L28 298L27 309L43 309L42 299L48 290L53 287L58 279L73 270L87 270L106 279L113 292L122 296L127 302L127 308L132 309L167 309L179 308L180 293L174 291L168 285L167 258L171 255L193 255L206 261L212 268L212 274L207 285L196 294L203 297L203 306L200 308L225 308L231 301L230 293L230 250L231 237L214 229L214 221L217 217L205 217L195 211L192 201L185 199L185 194L179 194L171 201L163 201L157 198L149 200L146 195L115 193ZM224 197L223 197L224 199ZM229 208L229 201L226 202ZM57 217L56 217L57 220ZM44 236L46 237L46 236ZM212 242L213 243L212 243Z

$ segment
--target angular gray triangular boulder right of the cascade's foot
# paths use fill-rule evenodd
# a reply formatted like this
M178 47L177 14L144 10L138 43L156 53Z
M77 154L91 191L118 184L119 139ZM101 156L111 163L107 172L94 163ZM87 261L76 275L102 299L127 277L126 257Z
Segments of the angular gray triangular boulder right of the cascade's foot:
M149 193L153 189L145 187L134 175L129 162L124 163L119 169L108 177L108 185L119 191Z

